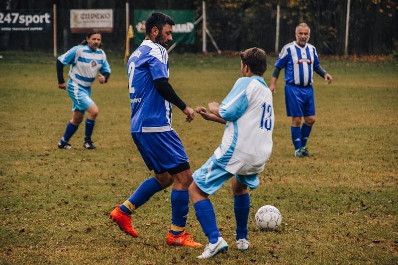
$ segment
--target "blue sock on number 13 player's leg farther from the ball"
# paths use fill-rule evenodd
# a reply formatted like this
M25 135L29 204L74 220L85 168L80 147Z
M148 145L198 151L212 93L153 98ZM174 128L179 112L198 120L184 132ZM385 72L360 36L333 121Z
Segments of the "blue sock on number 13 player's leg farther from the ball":
M211 205L210 200L199 200L194 204L194 208L196 218L198 218L204 234L208 238L208 241L214 244L221 235L215 220L213 205Z

